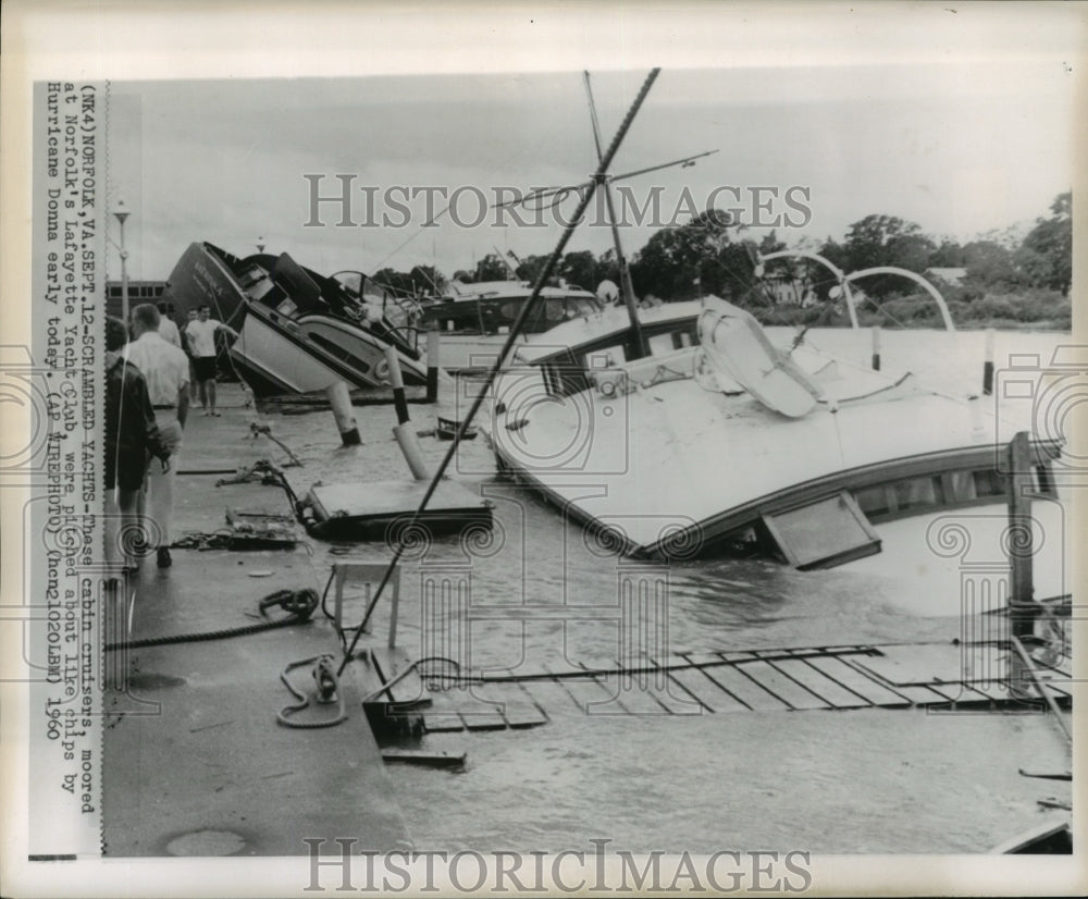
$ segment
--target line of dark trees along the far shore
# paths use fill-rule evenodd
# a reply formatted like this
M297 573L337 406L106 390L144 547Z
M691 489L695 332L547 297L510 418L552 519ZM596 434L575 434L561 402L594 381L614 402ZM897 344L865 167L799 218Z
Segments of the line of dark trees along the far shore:
M954 299L970 303L988 294L1009 295L1024 290L1044 290L1067 297L1073 280L1073 195L1060 194L1050 215L1036 220L1023 236L989 233L966 244L950 237L925 234L919 225L903 219L871 214L854 222L841 241L802 241L792 249L816 253L843 272L893 266L922 274L928 269L961 269L948 285ZM716 211L704 212L680 227L662 229L630 259L631 278L640 298L664 301L691 299L713 293L745 306L768 301L767 280L804 283L799 297L827 300L834 296L837 280L826 268L809 260L761 266L761 256L787 249L775 232L758 242L747 238L744 226ZM489 254L469 269L454 273L461 283L517 279L535 282L547 256L524 259L508 254ZM620 283L614 249L595 256L590 250L568 253L556 268L556 280L595 291L603 281ZM408 272L382 269L374 279L391 290L415 296L448 291L449 282L431 266ZM875 299L895 296L904 290L902 279L874 275L864 291ZM782 301L779 292L771 301Z

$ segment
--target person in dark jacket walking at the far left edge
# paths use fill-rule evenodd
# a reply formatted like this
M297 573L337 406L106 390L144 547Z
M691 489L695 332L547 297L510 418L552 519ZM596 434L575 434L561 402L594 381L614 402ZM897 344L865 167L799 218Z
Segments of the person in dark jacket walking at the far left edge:
M144 525L136 520L148 454L156 456L165 471L170 467L170 449L159 436L144 375L120 353L127 340L124 322L107 318L106 561L120 559L125 570L134 570L131 553L149 545Z

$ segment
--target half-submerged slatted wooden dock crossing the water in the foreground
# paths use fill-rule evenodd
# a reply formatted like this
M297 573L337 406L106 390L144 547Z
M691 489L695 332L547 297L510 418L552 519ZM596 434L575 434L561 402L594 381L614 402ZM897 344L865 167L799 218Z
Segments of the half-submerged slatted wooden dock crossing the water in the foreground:
M701 715L857 709L1036 711L1029 679L1010 682L1001 642L903 643L683 653L639 667L541 666L477 680L403 681L428 731L535 727L564 715ZM1043 689L1072 707L1064 667L1039 666Z

